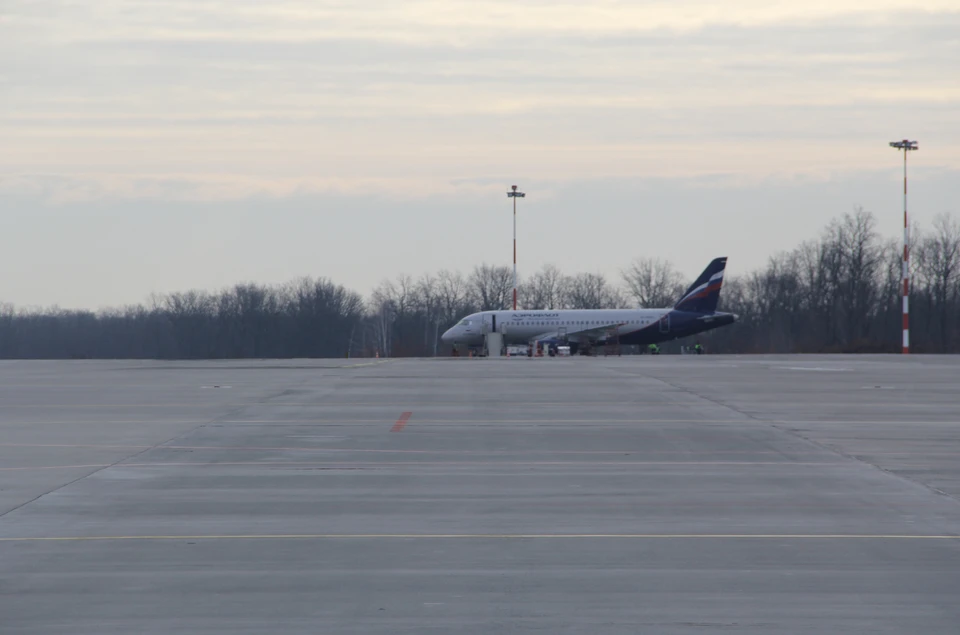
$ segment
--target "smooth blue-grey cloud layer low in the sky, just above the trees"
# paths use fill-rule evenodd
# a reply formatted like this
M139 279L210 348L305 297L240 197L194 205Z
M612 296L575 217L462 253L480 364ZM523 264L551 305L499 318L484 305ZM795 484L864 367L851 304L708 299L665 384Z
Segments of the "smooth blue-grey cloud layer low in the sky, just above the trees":
M519 178L528 194L519 209L520 270L552 262L616 278L646 255L670 259L692 276L727 255L731 273L741 275L815 238L857 205L874 212L881 233L895 240L901 184L897 157L891 151L889 158L885 170L843 178ZM913 178L912 217L921 226L941 212L960 213L960 171L919 169ZM17 272L0 281L0 300L96 307L151 292L301 275L366 292L399 272L509 264L505 192L512 182L425 183L408 199L372 183L226 200L198 198L196 184L175 178L142 182L129 198L108 190L52 200L50 191L0 187L3 218L16 228L0 235L0 266ZM48 180L53 191L77 185Z

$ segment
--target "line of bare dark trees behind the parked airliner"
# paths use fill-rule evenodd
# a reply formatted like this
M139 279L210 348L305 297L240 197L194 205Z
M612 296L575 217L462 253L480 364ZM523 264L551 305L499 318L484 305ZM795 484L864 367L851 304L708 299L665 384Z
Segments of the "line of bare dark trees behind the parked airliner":
M902 246L862 209L820 236L728 277L720 307L733 326L701 336L717 353L897 352ZM960 223L913 228L911 348L960 352ZM668 307L689 281L665 260L638 258L618 280L546 265L521 280L526 309ZM510 267L478 265L384 280L366 298L327 278L237 284L153 296L99 312L0 306L3 359L225 359L445 355L440 335L476 311L512 304Z

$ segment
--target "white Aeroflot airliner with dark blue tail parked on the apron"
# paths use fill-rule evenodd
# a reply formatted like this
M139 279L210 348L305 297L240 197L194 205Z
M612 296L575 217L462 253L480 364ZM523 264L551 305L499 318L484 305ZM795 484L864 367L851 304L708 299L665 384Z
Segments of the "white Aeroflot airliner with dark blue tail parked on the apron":
M617 340L649 345L733 324L737 316L717 311L726 258L716 258L669 309L575 309L481 311L460 320L441 339L480 347L487 333L503 334L504 344L546 344L551 352L566 344L571 353Z

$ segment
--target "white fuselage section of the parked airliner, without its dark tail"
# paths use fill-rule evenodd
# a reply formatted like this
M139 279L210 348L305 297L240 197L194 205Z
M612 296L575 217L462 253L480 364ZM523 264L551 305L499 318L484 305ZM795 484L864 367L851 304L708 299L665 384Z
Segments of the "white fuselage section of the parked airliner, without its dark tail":
M479 344L494 330L505 343L528 343L555 337L571 341L604 340L656 325L670 309L580 309L482 311L468 315L443 334L453 343Z

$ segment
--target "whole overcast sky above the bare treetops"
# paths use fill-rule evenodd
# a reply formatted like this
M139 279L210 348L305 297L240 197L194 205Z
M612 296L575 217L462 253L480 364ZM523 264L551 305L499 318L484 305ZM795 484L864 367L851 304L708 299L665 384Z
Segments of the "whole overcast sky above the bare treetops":
M0 301L638 256L960 215L957 0L0 0Z

